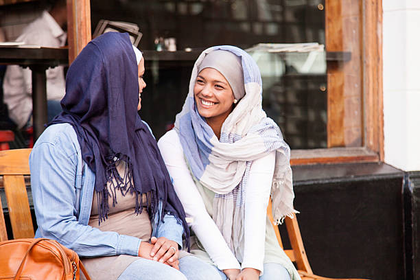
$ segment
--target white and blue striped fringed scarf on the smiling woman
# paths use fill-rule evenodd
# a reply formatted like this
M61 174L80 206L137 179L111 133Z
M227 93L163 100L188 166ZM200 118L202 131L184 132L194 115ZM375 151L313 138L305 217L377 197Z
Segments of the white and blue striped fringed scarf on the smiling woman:
M245 96L222 125L220 140L196 110L194 84L198 66L206 54L224 49L242 58ZM244 205L250 165L255 159L276 151L271 197L273 217L281 223L293 209L290 148L277 124L262 109L261 74L245 51L232 46L210 47L198 57L191 74L183 110L176 115L175 130L180 137L187 164L198 182L215 192L213 220L239 261L244 253Z

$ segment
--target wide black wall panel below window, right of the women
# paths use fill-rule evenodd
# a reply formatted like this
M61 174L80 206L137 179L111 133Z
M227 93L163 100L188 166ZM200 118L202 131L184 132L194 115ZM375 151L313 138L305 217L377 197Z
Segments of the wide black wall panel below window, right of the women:
M294 206L314 273L404 279L404 172L384 163L293 167Z

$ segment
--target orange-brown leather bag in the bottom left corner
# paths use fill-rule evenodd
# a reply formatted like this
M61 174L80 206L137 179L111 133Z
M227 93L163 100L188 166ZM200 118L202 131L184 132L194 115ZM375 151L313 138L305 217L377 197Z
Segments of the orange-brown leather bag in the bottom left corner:
M0 242L0 279L91 280L75 251L46 238Z

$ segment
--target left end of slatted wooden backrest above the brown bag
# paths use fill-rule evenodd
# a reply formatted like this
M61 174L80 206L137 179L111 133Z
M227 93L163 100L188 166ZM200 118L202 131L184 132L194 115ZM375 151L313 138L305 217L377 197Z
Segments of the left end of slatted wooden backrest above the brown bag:
M29 155L32 149L0 151L0 176L3 176L5 197L8 203L13 238L34 237L31 211L24 175L30 175ZM3 205L0 200L0 241L8 240Z

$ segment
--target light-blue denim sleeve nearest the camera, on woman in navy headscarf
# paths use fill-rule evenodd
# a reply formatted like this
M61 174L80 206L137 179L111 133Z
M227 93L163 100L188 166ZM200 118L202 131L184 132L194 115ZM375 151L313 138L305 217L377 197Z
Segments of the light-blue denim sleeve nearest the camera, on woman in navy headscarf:
M67 141L66 141L67 140ZM42 141L42 140L41 140ZM38 230L36 237L57 240L81 257L133 255L141 240L100 231L78 221L78 156L69 139L38 143L30 155L31 187ZM78 178L76 178L78 177ZM91 200L90 200L91 201Z

